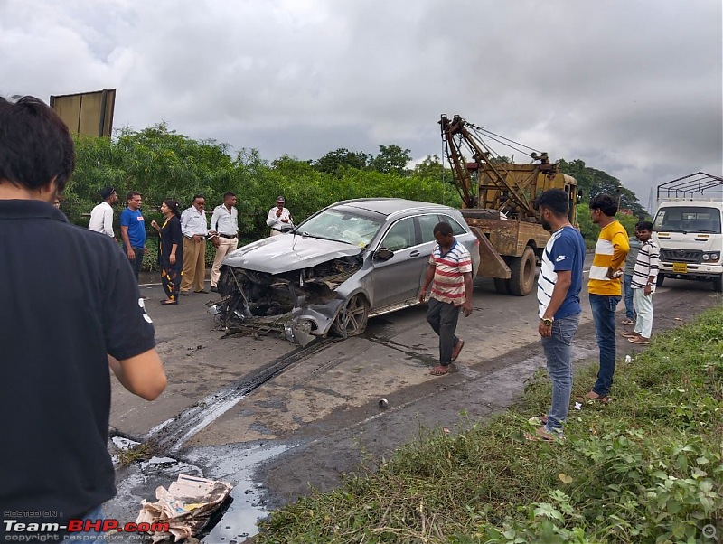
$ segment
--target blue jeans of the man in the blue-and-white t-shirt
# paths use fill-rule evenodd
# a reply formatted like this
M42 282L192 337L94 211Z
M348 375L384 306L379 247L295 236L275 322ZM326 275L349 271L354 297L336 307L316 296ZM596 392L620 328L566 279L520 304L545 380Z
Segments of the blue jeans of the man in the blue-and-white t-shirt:
M545 430L561 433L568 418L572 393L572 337L577 332L580 314L568 315L552 322L552 336L542 337L542 349L548 360L549 380L552 381L552 407L549 408Z

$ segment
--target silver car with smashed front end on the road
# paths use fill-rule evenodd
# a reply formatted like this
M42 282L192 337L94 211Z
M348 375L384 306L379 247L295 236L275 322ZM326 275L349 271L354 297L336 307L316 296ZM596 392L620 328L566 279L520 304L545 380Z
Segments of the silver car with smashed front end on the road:
M433 230L452 225L479 266L479 241L448 206L402 199L337 202L294 230L224 259L211 308L229 329L266 329L302 346L364 332L370 317L418 304Z

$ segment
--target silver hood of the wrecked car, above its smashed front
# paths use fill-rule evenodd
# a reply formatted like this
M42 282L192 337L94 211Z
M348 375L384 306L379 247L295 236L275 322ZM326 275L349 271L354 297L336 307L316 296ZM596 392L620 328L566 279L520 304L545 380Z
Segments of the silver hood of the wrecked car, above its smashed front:
M230 267L281 274L315 267L334 258L352 257L363 248L328 239L283 234L259 239L231 252L223 259Z

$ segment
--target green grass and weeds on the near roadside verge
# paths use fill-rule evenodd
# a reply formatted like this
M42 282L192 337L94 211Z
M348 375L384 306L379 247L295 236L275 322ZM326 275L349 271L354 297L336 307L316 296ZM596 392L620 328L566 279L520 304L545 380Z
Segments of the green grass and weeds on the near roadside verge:
M580 384L596 368L578 372ZM723 532L723 308L656 335L615 372L614 402L571 410L567 439L531 443L540 373L517 406L423 429L374 470L261 523L258 543L701 542Z

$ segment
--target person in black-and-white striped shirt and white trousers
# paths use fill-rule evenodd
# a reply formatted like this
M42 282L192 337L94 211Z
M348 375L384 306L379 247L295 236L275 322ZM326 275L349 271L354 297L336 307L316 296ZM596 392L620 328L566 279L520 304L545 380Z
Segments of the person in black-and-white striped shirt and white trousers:
M640 221L635 225L635 238L642 243L635 259L633 270L633 304L637 319L633 333L623 333L628 342L647 345L650 343L650 334L653 330L653 293L655 282L658 279L660 265L660 249L650 239L653 234L653 223Z

